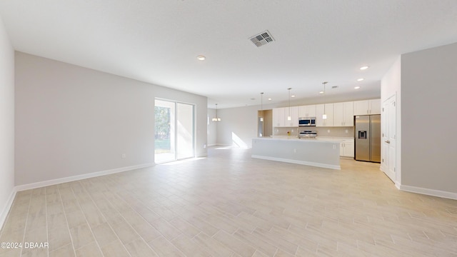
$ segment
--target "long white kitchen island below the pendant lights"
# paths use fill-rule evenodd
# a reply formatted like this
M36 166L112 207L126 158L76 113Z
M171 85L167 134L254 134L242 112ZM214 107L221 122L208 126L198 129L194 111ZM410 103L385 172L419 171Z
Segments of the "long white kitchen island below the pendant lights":
M340 143L299 138L253 138L252 158L341 169Z

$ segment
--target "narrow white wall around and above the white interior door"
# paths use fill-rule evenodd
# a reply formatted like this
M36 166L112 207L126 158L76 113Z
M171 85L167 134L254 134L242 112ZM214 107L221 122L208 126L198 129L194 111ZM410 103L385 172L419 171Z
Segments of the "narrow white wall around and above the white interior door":
M381 79L381 104L396 97L396 181L401 185L401 56ZM382 122L382 121L381 121Z

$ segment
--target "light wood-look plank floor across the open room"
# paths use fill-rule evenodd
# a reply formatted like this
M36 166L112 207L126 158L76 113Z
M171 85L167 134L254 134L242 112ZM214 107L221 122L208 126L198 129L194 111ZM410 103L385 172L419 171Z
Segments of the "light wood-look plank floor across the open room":
M457 201L398 191L378 163L250 154L21 191L0 242L49 248L0 256L457 256Z

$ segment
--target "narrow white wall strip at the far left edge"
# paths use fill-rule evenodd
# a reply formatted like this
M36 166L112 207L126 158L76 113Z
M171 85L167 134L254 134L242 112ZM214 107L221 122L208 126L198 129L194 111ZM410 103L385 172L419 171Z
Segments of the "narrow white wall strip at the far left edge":
M0 17L0 228L14 198L14 49Z

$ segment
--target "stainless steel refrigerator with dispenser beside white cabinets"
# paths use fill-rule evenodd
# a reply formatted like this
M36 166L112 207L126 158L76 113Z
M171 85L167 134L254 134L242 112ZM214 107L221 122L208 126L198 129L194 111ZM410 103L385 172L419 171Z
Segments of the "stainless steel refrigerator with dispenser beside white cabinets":
M381 115L356 116L356 160L381 163Z

